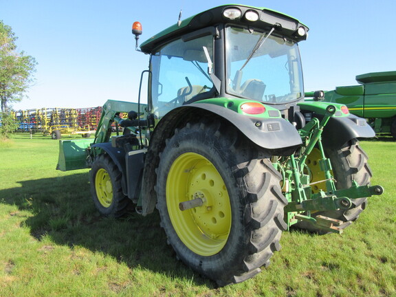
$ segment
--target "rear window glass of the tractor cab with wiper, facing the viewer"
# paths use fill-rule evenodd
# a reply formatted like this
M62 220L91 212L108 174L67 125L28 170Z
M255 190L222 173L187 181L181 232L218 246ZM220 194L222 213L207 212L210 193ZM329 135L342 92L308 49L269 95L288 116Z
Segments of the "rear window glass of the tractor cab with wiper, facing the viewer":
M270 33L226 28L228 94L266 104L285 104L303 98L297 43Z

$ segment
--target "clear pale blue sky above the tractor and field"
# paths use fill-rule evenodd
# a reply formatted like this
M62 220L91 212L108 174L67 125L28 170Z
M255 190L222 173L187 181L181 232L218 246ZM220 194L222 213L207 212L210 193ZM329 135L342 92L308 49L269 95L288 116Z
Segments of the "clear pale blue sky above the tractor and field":
M234 3L219 0L0 0L0 20L18 36L18 50L36 58L34 85L14 110L137 102L148 55L140 42L181 19ZM309 27L300 43L305 91L357 85L355 76L396 71L395 0L241 0L283 12Z

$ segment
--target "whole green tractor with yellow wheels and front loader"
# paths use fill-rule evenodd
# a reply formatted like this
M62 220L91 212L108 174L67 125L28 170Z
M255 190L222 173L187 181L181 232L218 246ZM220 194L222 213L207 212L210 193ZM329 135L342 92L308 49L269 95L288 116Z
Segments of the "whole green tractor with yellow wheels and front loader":
M91 168L106 216L157 208L177 258L218 285L258 274L292 225L342 232L383 192L358 142L375 133L343 104L304 102L307 31L273 10L222 5L139 47L134 23L150 56L146 103L107 101L94 140L60 142L58 169Z

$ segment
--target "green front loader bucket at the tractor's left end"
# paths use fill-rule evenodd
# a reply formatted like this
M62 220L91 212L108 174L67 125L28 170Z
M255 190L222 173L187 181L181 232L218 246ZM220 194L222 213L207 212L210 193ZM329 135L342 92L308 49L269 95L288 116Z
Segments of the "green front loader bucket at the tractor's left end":
M87 147L92 140L59 140L59 157L57 170L67 171L89 168L85 162L87 159Z

